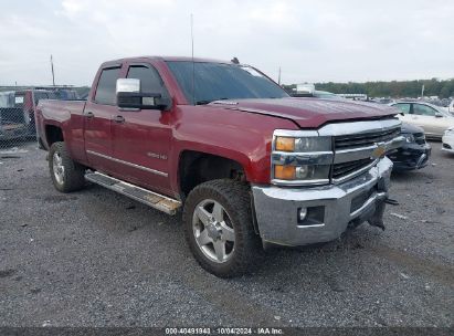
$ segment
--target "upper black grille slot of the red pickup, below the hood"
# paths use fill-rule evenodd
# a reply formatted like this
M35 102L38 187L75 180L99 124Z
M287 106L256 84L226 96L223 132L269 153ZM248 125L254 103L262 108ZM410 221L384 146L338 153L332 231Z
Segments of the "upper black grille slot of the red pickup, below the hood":
M335 150L373 146L377 143L389 141L400 134L400 128L371 132L365 134L342 135L335 137Z

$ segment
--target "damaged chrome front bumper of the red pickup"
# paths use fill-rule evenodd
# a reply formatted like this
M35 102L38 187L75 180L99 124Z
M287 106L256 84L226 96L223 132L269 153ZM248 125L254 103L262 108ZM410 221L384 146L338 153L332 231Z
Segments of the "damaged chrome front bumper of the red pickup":
M350 222L381 220L392 162L387 157L340 185L314 188L253 186L257 229L264 244L306 245L334 240ZM299 209L307 216L298 220Z

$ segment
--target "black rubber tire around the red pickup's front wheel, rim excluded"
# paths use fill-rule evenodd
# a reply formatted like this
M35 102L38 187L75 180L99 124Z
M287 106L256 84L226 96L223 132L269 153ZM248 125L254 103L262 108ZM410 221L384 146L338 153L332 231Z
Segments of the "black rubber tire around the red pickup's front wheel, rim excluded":
M196 207L203 200L215 200L229 213L235 231L235 248L224 263L207 258L193 233L192 217ZM252 224L250 187L229 179L211 180L196 187L188 196L183 209L183 228L189 249L199 264L219 277L233 277L251 271L260 258L261 242Z

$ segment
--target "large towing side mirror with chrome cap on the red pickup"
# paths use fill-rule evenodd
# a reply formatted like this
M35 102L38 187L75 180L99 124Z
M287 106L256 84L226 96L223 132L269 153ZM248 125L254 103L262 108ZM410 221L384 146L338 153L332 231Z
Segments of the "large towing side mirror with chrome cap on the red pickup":
M171 105L170 98L165 98L160 93L140 92L140 80L117 80L117 105L119 108L138 109L168 109Z

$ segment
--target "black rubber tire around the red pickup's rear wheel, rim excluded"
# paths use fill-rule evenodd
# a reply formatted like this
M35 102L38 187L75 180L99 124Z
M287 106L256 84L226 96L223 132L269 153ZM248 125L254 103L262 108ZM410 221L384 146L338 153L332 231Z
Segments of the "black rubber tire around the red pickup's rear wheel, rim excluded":
M59 182L54 174L54 155L57 153L62 158L62 166L64 167L63 181ZM49 170L51 179L56 190L61 192L76 191L85 186L85 168L75 162L66 149L65 143L54 143L49 150Z

